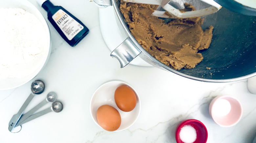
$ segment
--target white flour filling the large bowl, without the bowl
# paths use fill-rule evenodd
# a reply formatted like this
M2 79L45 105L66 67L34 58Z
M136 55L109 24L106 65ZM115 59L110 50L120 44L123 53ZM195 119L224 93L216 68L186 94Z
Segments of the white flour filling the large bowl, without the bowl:
M0 14L0 78L26 77L44 64L46 30L21 8L0 8Z

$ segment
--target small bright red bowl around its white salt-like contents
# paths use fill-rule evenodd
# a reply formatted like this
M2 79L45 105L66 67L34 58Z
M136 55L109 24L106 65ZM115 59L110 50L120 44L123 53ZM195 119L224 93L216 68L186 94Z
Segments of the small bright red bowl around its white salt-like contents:
M206 143L208 137L207 129L202 122L196 119L188 119L179 124L179 126L176 129L177 143L184 143L180 138L180 131L181 128L185 125L190 125L194 127L197 132L197 139L193 143Z

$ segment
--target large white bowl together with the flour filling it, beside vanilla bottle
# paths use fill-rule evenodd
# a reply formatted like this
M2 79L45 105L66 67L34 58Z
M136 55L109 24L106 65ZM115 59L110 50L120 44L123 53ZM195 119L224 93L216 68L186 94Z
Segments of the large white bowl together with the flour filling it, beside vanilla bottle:
M27 0L0 3L0 90L32 80L51 53L51 35L42 14Z

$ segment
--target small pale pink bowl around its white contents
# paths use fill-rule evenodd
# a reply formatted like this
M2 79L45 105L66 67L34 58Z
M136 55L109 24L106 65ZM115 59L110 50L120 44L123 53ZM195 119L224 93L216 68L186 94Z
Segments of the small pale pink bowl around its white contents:
M227 100L231 105L230 112L227 115L222 117L216 116L212 112L213 105L216 103L217 100L220 100L220 99ZM242 108L242 104L239 102L237 98L230 95L222 95L222 96L215 97L211 101L209 105L209 113L216 124L220 125L221 127L231 127L237 124L241 119L243 114L243 108Z

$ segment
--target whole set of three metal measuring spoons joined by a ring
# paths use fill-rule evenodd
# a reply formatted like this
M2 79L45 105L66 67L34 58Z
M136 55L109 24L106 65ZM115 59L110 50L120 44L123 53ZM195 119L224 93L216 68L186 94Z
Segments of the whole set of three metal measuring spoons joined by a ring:
M18 111L17 114L13 115L10 122L9 122L9 131L12 132L12 130L15 127L18 127L32 119L35 119L37 117L40 117L44 114L47 114L49 112L60 112L63 109L63 103L60 101L56 101L57 99L57 94L55 92L50 92L47 94L47 97L45 100L37 104L35 107L33 107L30 111L28 111L26 114L23 114L24 110L28 106L28 104L31 102L33 97L37 94L43 93L45 90L45 84L41 80L35 80L32 82L31 85L31 91L32 93L29 95L27 100L23 103L21 106L20 110ZM42 106L47 104L48 102L53 102L52 106L49 108L46 108L40 112L35 113L38 109L40 109ZM34 114L35 113L35 114ZM21 130L21 129L20 129ZM19 131L18 131L19 132ZM17 132L12 132L12 133L17 133Z

